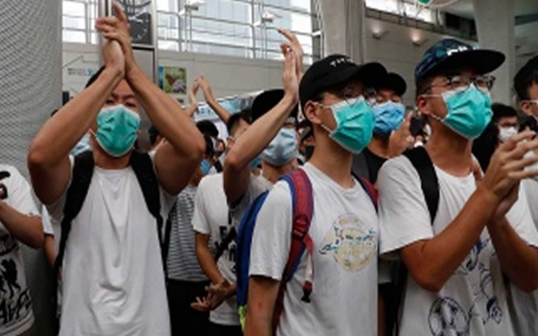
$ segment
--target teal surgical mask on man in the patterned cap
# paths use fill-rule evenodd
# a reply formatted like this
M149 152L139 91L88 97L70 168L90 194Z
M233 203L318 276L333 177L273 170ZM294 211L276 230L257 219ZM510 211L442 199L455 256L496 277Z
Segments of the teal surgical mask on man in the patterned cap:
M433 96L433 95L432 95ZM440 118L431 114L448 128L467 139L477 138L490 124L490 94L471 84L466 90L449 90L441 97L447 105L447 116Z

